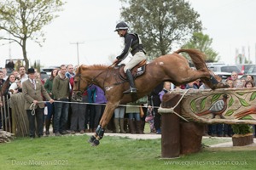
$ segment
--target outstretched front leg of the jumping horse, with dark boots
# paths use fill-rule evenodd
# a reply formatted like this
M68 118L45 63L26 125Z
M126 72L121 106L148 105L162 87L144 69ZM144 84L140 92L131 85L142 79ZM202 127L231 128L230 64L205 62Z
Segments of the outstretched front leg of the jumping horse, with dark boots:
M91 146L97 146L100 144L100 139L103 138L103 135L105 133L105 128L107 127L108 122L110 121L111 117L113 116L113 110L116 107L117 107L117 105L113 105L113 104L106 105L106 108L102 115L102 119L100 121L100 124L96 128L96 132L88 140L91 143Z

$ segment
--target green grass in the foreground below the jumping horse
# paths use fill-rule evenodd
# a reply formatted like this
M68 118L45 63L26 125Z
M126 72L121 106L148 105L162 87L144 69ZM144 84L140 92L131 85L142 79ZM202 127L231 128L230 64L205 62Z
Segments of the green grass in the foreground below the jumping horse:
M91 147L89 136L18 138L0 144L0 169L254 169L256 151L201 151L177 159L160 159L160 139L105 136ZM223 139L227 142L230 139ZM219 140L204 139L206 145Z

